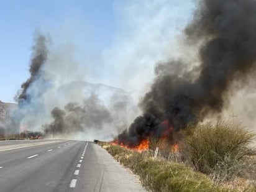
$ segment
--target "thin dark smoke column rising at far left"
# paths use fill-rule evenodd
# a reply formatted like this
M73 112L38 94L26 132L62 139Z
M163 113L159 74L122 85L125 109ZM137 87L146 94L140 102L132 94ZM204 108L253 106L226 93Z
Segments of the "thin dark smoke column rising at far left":
M22 83L21 94L17 96L17 100L19 106L22 106L24 103L29 103L30 95L28 93L29 87L32 83L37 80L40 73L40 68L42 68L43 64L47 60L47 39L45 36L41 34L37 34L35 37L35 45L32 47L32 58L30 61L30 78L27 79L24 83Z

